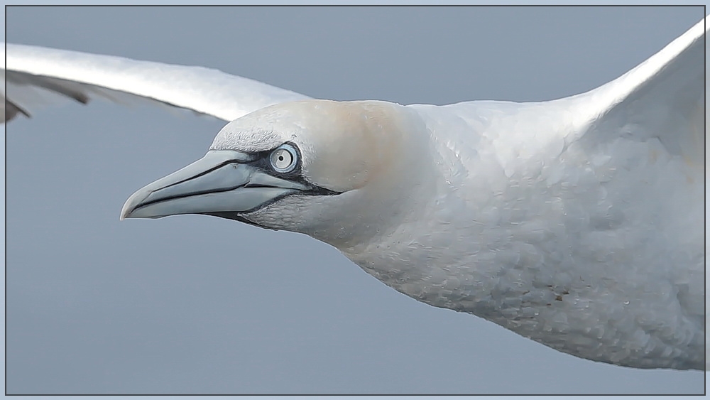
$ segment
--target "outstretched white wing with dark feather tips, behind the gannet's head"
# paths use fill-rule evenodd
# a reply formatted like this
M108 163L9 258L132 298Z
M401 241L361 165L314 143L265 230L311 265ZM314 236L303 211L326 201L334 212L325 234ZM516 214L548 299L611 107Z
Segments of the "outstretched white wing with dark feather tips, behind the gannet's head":
M4 121L53 99L86 104L148 99L231 121L271 104L309 97L204 67L168 65L31 45L6 44Z

